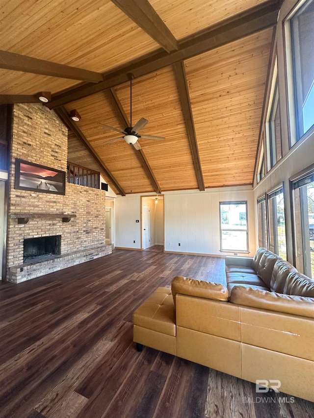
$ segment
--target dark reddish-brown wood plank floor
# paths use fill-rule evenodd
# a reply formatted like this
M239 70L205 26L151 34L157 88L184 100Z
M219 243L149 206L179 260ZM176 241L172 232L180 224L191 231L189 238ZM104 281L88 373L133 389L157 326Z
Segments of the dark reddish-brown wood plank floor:
M176 275L224 283L222 258L114 250L0 284L0 417L314 417L255 385L132 342L132 313ZM292 400L294 402L292 402Z

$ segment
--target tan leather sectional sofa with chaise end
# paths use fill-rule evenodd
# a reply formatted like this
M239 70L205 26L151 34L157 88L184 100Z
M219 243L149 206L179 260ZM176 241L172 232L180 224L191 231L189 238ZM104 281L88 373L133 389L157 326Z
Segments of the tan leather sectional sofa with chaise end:
M227 257L226 278L158 288L133 314L138 348L314 401L314 281L265 248Z

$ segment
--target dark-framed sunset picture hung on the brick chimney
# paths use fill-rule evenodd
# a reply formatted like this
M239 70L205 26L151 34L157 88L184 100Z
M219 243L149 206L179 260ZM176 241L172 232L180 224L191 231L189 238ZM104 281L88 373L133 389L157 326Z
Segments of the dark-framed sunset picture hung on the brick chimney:
M65 172L16 158L15 189L65 195Z

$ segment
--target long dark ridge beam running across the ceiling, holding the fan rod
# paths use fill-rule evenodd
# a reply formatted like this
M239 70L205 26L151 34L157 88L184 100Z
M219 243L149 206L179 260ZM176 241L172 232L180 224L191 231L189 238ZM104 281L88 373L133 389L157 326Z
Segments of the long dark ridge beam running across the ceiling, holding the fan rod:
M128 73L132 73L135 78L150 74L176 62L186 60L274 26L277 24L279 8L280 1L267 1L262 6L255 6L245 13L241 13L214 27L211 26L208 30L183 40L180 42L178 51L167 54L167 52L159 50L118 70L104 74L104 81L98 84L83 84L66 92L56 94L52 97L52 101L47 103L47 107L54 109L71 101L125 83L129 81Z

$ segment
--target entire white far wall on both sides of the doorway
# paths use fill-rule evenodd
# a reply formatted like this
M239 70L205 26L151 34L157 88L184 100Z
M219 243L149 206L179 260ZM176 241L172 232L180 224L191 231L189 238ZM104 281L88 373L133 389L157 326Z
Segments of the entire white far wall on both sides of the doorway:
M188 190L165 192L163 195L166 251L220 255L219 202L247 200L249 255L255 253L257 247L252 188L228 187L207 189L205 192ZM141 248L141 224L135 222L136 219L140 220L140 216L141 195L117 197L116 246Z

